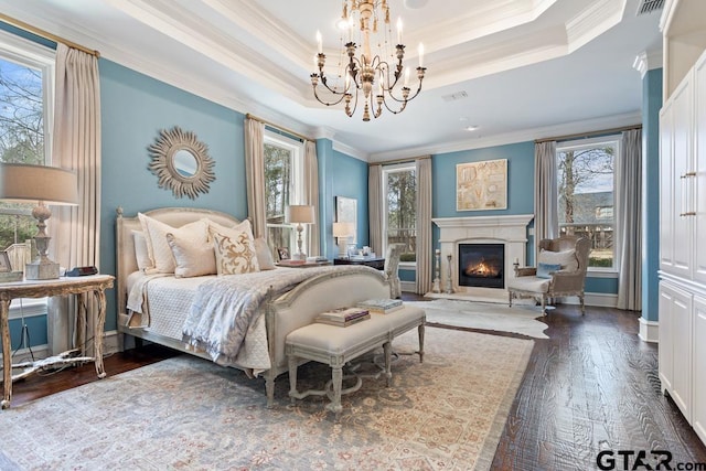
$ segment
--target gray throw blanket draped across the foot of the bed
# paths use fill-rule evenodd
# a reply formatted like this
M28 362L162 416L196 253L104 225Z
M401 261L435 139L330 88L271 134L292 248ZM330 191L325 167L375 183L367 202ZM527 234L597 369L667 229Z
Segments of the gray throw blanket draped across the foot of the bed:
M371 269L355 266L278 268L244 275L227 275L206 281L191 306L183 327L183 341L204 351L221 365L233 365L250 324L263 315L268 292L272 299L317 275Z

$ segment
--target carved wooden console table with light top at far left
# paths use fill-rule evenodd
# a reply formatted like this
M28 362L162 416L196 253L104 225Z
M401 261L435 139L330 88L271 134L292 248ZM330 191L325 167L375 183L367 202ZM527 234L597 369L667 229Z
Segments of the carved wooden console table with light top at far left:
M1 406L3 409L10 407L12 398L12 382L25 377L35 371L54 364L72 364L93 361L96 364L96 373L99 378L105 377L103 367L103 335L106 321L106 295L105 290L113 288L110 275L93 275L76 278L57 278L52 280L25 280L17 282L0 283L0 330L2 331L2 386L3 397ZM93 293L98 302L98 312L88 312L88 295ZM76 318L76 331L78 332L78 349L61 353L60 355L38 362L26 362L12 365L12 345L10 344L10 302L18 298L44 298L52 296L78 295L78 312ZM94 315L94 355L84 356L83 330L85 328L85 317L78 315L81 309L85 315ZM71 355L79 351L81 356ZM18 375L12 375L13 368L25 368Z

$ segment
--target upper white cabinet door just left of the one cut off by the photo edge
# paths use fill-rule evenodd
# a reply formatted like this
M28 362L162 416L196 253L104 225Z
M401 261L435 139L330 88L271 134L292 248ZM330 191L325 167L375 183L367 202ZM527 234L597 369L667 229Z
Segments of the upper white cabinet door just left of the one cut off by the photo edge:
M672 267L670 271L676 276L692 277L692 211L694 197L691 192L693 178L692 137L694 126L694 106L692 82L687 78L674 92L672 105L672 171L673 171L673 218L672 218Z

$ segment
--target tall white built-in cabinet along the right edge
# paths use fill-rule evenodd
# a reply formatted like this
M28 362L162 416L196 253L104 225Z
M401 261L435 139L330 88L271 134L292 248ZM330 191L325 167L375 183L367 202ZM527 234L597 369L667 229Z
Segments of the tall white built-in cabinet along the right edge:
M706 442L706 53L660 114L660 379Z

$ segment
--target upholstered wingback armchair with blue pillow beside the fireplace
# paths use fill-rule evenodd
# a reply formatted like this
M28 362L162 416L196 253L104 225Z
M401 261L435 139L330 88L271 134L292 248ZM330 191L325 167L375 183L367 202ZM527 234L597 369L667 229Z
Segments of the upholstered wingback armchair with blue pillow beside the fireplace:
M517 267L515 277L507 280L510 307L513 298L533 297L542 302L542 314L546 315L548 300L559 296L577 296L584 306L584 286L590 239L564 236L539 240L536 267Z

